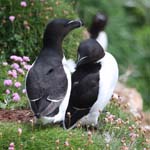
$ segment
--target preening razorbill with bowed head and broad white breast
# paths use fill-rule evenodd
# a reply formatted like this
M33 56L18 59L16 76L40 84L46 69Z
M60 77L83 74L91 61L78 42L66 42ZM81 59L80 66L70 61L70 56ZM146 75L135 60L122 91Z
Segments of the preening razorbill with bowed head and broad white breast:
M118 81L118 65L95 39L80 43L76 71L63 126L71 129L98 124L100 112L108 104Z

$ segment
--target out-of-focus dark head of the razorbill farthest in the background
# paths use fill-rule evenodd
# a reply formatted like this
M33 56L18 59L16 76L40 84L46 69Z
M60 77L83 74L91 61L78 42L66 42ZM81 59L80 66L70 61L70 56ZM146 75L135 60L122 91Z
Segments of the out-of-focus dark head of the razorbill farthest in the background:
M92 20L89 28L91 38L97 38L98 33L103 31L107 25L108 17L104 13L97 13Z

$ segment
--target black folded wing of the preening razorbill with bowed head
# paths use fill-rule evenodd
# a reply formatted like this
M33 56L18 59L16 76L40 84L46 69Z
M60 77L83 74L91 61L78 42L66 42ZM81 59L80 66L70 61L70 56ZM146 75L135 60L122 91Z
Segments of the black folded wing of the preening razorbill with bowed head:
M97 100L99 91L99 70L83 75L76 71L73 74L72 92L65 114L64 127L73 127L78 120L87 115Z

